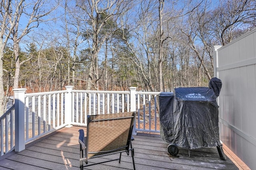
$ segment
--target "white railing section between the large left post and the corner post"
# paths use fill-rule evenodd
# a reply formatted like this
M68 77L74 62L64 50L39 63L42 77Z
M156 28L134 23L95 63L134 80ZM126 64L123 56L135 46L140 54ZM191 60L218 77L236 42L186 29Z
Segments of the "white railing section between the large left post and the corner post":
M64 118L64 101L68 91L25 94L25 143L60 129Z

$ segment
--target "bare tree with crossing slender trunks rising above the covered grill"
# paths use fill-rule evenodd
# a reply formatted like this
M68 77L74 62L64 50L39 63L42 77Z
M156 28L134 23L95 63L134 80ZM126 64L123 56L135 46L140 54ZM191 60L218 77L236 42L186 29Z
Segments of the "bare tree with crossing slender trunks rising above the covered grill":
M213 37L211 34L212 32L209 30L209 27L212 24L212 18L210 18L207 13L207 9L209 7L208 5L209 4L206 1L194 11L190 12L186 18L186 24L184 24L180 29L181 32L188 38L188 44L199 60L198 86L200 86L201 82L201 67L204 68L204 72L208 80L212 78L209 68L205 64L207 61L207 55L210 55L211 47L209 44L211 42L211 37Z

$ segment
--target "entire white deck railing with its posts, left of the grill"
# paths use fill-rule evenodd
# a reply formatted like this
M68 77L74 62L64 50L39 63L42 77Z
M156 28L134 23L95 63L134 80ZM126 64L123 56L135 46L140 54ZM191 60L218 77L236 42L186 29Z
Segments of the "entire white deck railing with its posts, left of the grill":
M86 125L87 115L137 111L134 133L159 133L159 92L66 90L25 94L14 89L15 104L0 117L0 156L66 125Z

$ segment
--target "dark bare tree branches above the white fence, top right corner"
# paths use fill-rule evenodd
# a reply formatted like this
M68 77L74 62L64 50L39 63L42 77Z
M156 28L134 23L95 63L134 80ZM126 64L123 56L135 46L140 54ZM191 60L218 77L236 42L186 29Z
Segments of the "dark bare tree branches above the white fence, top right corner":
M218 8L212 12L216 38L225 45L239 36L237 30L250 30L256 25L256 1L255 0L222 0ZM242 32L243 33L243 32Z

